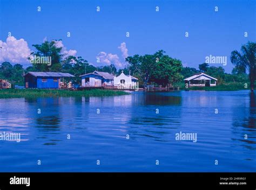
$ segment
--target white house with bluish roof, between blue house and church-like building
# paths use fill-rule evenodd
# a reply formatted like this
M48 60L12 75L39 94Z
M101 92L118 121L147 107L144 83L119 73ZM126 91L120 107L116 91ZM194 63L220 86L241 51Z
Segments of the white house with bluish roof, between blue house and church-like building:
M113 86L114 84L114 76L108 72L94 71L80 77L82 77L82 87Z

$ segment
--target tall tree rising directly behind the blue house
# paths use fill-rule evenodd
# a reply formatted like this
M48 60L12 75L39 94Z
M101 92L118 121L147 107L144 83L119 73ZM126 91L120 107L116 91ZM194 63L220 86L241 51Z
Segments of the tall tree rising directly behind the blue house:
M31 56L36 57L50 57L51 58L51 65L50 64L42 64L42 63L32 63L33 67L35 67L36 71L41 72L59 72L62 69L62 65L60 64L62 57L61 51L62 48L57 48L58 41L52 40L51 42L45 41L41 45L36 44L32 45L36 48L35 52L31 53ZM28 58L31 60L31 58Z

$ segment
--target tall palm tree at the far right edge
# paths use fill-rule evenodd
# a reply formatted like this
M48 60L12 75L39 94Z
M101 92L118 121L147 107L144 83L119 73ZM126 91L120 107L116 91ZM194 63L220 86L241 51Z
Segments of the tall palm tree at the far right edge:
M256 43L248 42L241 46L241 52L231 52L231 62L236 67L244 67L249 73L251 91L254 90L256 80Z

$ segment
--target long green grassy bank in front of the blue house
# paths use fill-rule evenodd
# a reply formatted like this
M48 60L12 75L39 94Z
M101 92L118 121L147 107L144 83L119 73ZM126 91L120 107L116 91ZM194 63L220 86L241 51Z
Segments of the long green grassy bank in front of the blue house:
M37 98L37 97L102 97L120 96L129 93L113 90L44 90L44 89L1 89L0 98Z

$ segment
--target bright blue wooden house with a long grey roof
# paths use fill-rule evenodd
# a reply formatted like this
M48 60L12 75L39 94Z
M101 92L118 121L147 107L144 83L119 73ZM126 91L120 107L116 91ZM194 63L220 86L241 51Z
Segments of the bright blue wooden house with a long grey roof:
M28 72L24 75L25 88L60 89L63 87L62 78L75 77L62 72Z

